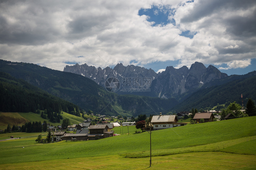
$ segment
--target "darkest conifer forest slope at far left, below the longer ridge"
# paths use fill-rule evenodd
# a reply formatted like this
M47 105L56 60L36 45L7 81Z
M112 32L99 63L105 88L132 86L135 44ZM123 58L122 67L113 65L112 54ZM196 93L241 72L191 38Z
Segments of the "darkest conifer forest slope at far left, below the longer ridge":
M48 113L56 112L57 114L61 111L71 113L75 109L74 115L80 116L77 105L53 96L22 79L18 80L8 73L0 72L0 80L0 110L2 112L36 113L37 109L47 109Z

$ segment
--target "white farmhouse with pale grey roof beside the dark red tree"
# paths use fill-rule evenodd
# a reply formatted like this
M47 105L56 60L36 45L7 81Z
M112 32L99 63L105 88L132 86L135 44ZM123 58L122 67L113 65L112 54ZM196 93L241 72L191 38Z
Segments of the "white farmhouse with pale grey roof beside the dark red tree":
M162 115L162 113L160 113L160 115L154 115L151 123L154 130L187 125L187 123L178 123L176 115Z

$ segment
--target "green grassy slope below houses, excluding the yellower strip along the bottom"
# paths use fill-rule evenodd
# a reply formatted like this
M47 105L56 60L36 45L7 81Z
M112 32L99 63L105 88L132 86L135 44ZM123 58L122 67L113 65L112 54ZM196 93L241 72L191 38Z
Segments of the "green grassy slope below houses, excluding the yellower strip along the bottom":
M127 134L128 128L129 136ZM35 144L35 138L0 142L2 149L0 164L35 161L49 161L50 163L50 161L53 160L57 161L58 159L63 159L62 161L67 161L67 159L75 158L72 159L74 163L78 158L88 160L92 157L97 157L99 160L103 161L102 158L106 156L110 158L114 155L118 155L120 158L137 159L149 157L149 133L134 133L135 126L115 127L113 130L115 133L123 133L120 136L100 140L81 142L63 141L43 145ZM218 155L225 155L224 152L247 154L251 156L249 159L253 160L256 155L255 150L252 149L256 146L255 135L256 116L152 131L152 155L161 156L210 151L218 152ZM13 147L20 146L21 143L26 145L25 148L22 148L23 152L20 151L20 147ZM243 146L243 150L238 149L240 146ZM104 149L99 152L99 147ZM24 152L26 152L26 157L22 156ZM9 155L8 153L13 154ZM192 153L190 154L192 155ZM248 159L248 157L246 158ZM137 159L130 161L135 163ZM157 158L153 157L152 159L156 160ZM238 161L239 160L237 160L237 162ZM104 163L98 162L98 164L103 163L106 166L111 162L112 161ZM11 164L4 165L10 166ZM154 162L154 165L156 166L157 163ZM80 167L80 164L77 164L77 166Z

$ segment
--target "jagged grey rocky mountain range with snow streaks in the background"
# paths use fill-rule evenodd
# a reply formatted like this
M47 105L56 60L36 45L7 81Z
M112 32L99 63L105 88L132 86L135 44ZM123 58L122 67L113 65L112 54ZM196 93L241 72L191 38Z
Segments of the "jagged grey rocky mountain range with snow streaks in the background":
M199 62L193 63L190 69L186 66L179 69L167 66L164 72L158 74L152 69L134 65L124 66L122 63L118 63L113 69L110 67L102 69L88 66L87 64L76 64L74 66L65 66L64 72L81 74L103 87L105 81L110 77L116 77L121 86L124 86L123 83L126 78L150 78L150 93L146 95L161 98L180 98L186 93L203 87L205 83L228 77L227 74L221 73L216 67L210 65L206 68L203 63Z

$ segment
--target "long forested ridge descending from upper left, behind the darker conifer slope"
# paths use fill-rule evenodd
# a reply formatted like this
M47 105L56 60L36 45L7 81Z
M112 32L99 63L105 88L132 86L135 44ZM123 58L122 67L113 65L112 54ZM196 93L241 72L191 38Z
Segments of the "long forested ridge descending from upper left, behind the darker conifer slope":
M122 114L135 117L149 112L157 114L163 110L171 109L178 103L173 98L165 100L110 93L93 80L82 75L52 70L36 64L0 60L0 71L72 102L85 111L90 109L94 113L102 115Z

